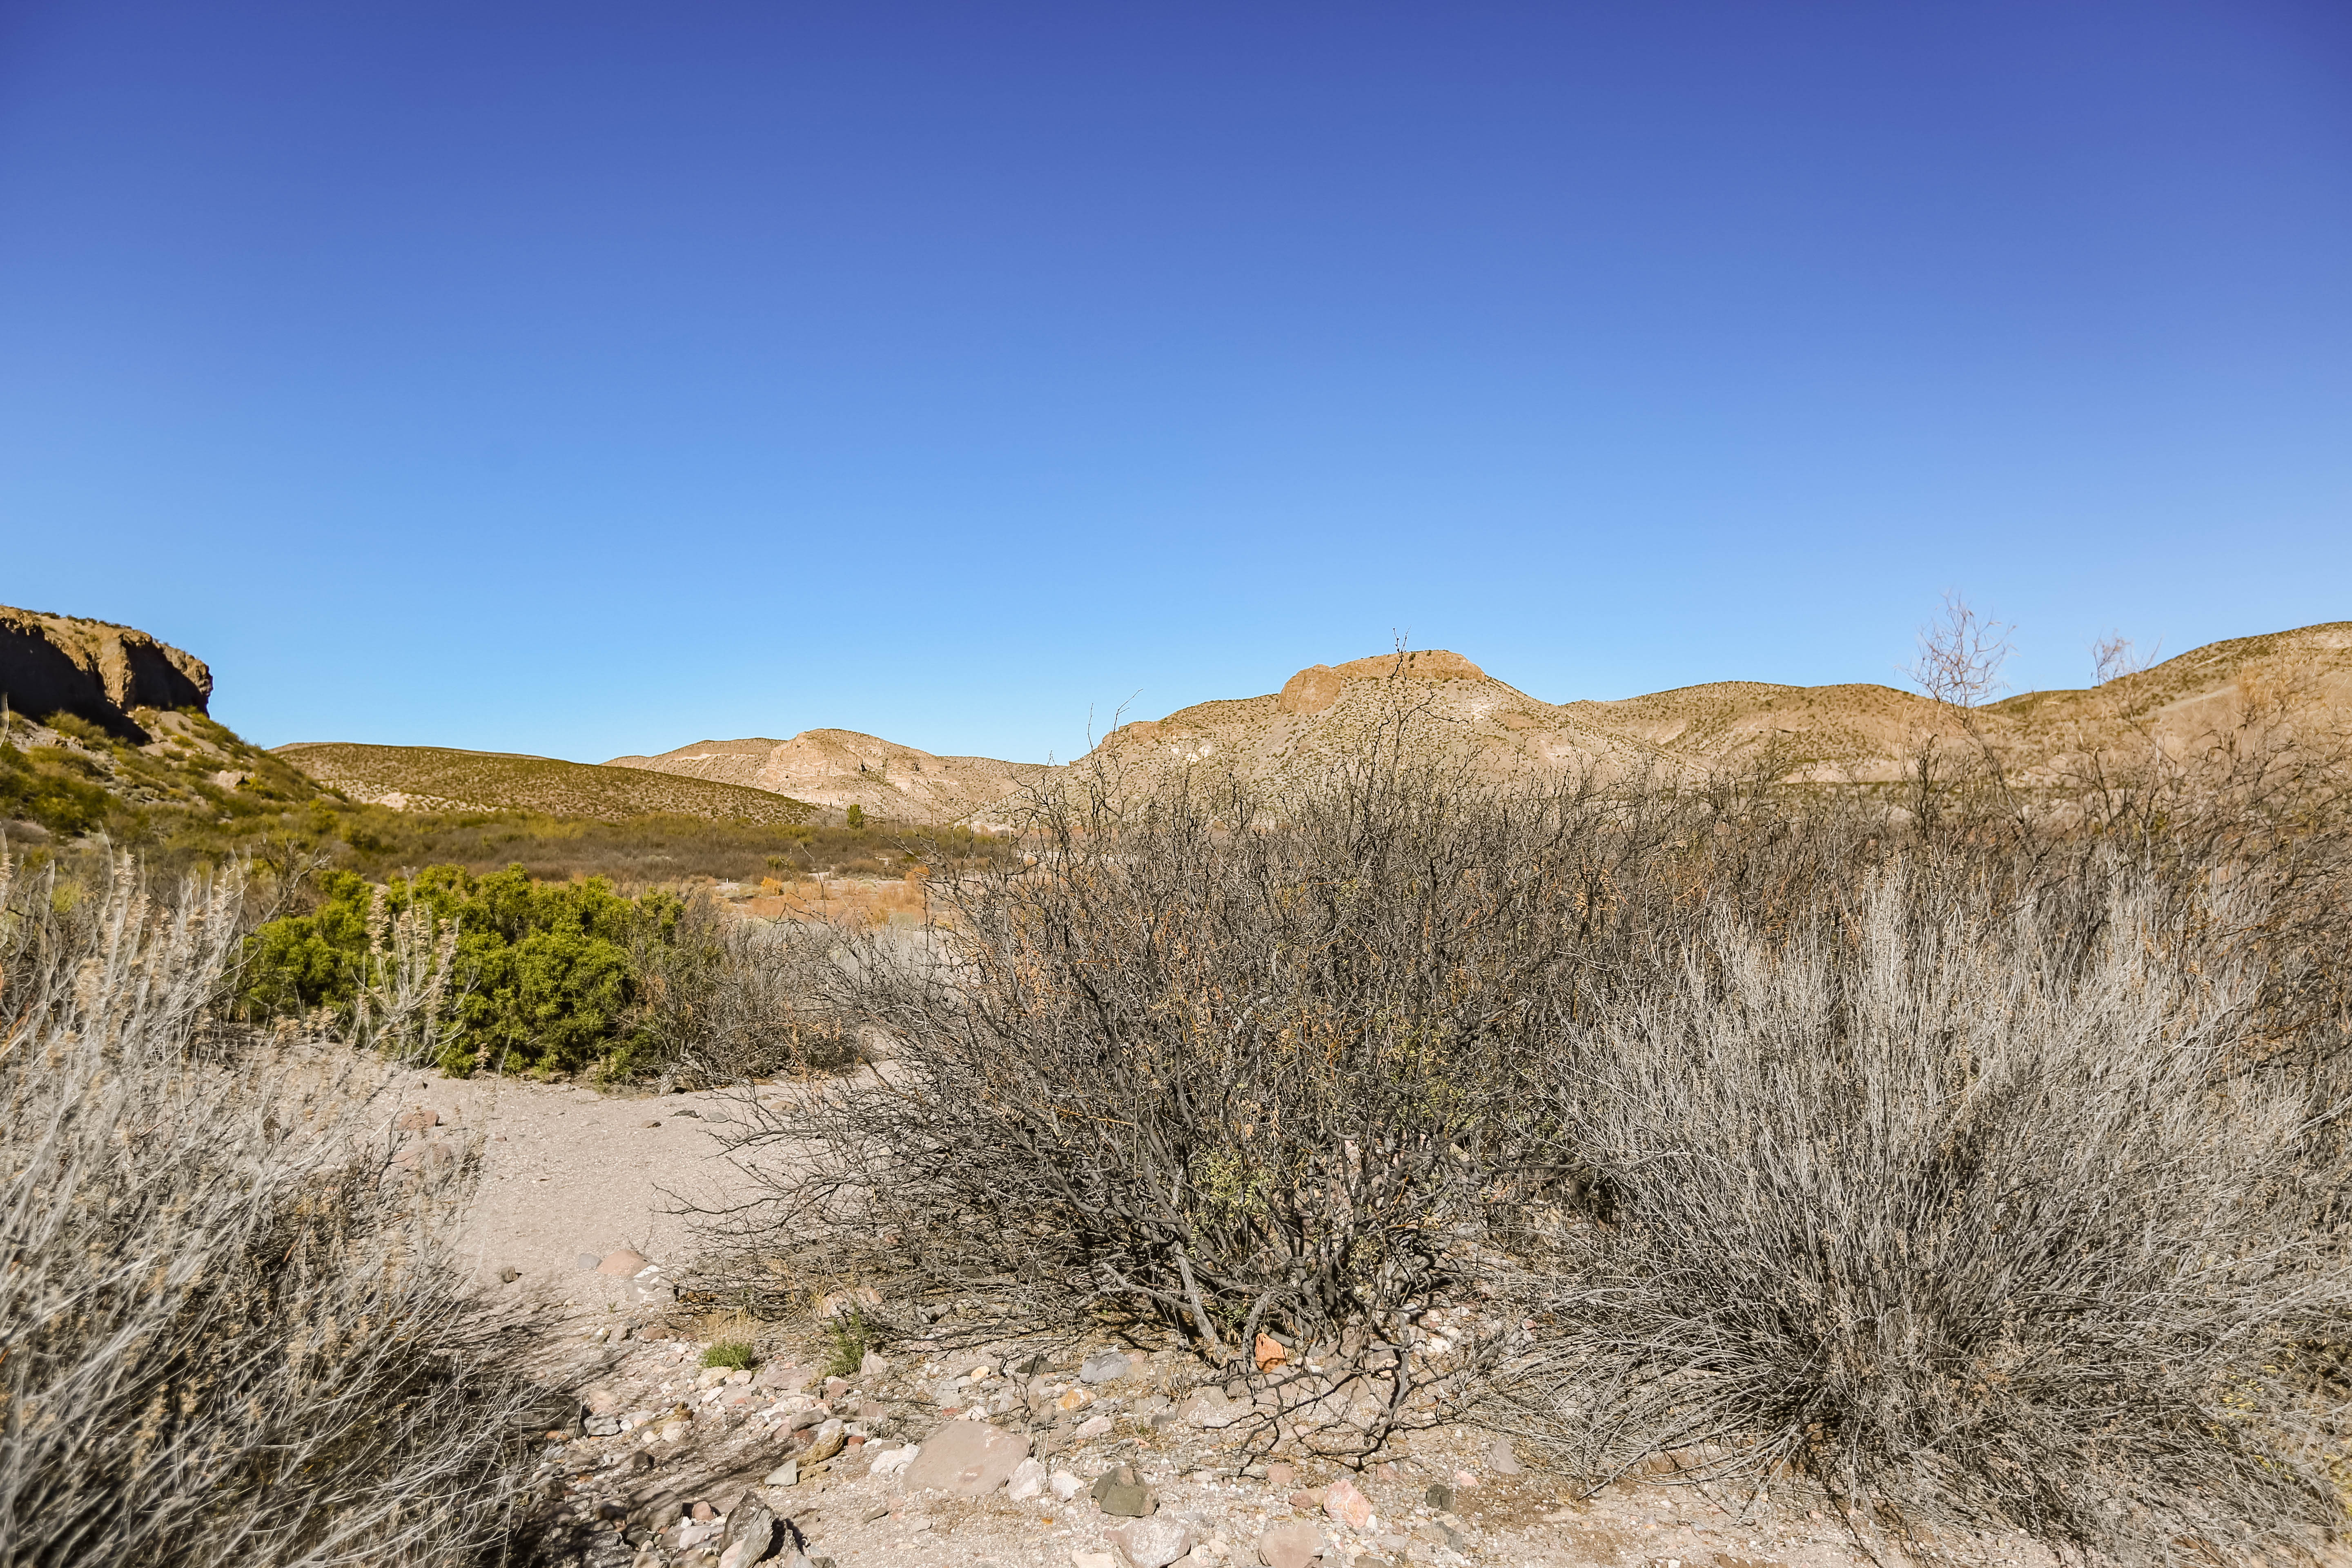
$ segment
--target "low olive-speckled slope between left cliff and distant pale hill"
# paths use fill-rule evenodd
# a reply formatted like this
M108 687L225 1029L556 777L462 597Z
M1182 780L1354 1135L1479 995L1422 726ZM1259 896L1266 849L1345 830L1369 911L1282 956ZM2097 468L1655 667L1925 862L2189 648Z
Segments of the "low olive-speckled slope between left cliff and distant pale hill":
M273 750L318 783L395 811L543 811L607 823L668 813L781 825L816 816L807 802L771 790L555 757L348 741L294 741Z

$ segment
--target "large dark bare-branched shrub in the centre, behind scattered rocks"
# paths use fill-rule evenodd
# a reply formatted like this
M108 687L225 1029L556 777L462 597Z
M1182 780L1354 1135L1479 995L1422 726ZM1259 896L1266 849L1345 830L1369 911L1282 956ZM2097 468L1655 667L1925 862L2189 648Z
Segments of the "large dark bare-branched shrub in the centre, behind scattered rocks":
M1037 802L1035 870L936 889L953 929L804 931L807 994L887 1072L746 1100L746 1276L1117 1312L1348 1413L1421 1389L1414 1321L1529 1159L1519 1072L1661 851L1663 797L1510 792L1367 750L1310 788L1178 776ZM1653 820L1656 818L1656 820ZM1369 1373L1378 1371L1378 1378Z

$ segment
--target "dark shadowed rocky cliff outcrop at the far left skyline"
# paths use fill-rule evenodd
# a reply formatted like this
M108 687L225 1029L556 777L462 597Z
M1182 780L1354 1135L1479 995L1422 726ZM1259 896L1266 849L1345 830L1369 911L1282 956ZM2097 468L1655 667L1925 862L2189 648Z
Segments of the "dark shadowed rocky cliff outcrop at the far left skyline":
M129 625L0 604L0 696L26 717L71 712L143 745L132 712L205 712L212 670Z

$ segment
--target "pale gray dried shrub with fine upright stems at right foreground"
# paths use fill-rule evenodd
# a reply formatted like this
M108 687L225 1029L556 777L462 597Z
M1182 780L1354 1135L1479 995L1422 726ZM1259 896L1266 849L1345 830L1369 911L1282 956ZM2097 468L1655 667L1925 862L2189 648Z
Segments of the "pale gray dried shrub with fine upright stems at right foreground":
M1863 1530L2317 1544L2352 1276L2340 1107L2263 1067L2298 959L2239 940L2246 893L1969 870L1708 912L1562 1037L1548 1117L1606 1204L1536 1253L1515 1415L1592 1481L1668 1450Z

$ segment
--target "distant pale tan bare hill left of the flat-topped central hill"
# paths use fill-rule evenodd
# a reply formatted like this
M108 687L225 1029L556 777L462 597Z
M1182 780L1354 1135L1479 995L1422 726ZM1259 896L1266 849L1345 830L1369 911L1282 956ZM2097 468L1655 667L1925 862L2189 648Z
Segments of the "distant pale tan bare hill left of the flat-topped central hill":
M809 729L790 741L696 741L659 757L614 757L604 766L861 806L898 823L957 823L1047 773L1035 762L934 757L854 729Z

